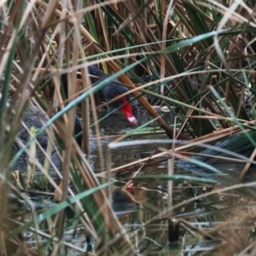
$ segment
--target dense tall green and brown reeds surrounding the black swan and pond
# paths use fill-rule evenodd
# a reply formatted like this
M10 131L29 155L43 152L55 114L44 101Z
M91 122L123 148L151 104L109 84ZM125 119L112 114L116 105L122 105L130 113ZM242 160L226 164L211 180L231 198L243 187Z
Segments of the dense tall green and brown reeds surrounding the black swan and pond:
M255 147L253 2L13 0L0 3L1 255L49 252L61 255L66 247L73 247L64 239L64 234L71 229L65 221L67 207L73 208L85 236L96 241L96 254L137 253L135 235L126 233L105 193L113 184L112 180L108 176L106 183L100 183L89 164L89 103L96 133L99 133L92 95L111 79L119 78L126 84L169 137L193 139L177 147L174 140L172 150L162 149L161 154L193 161L179 151L201 143L214 143L241 130L251 131L246 133L245 144ZM91 87L86 67L98 64L105 73L112 75ZM82 73L81 80L77 79L78 70ZM66 98L62 93L63 73L67 73L68 81ZM143 77L148 76L151 79L147 83ZM181 128L178 131L172 128L151 105L169 108L177 123L182 124ZM18 136L20 122L27 108L35 109L35 106L43 114L44 124L29 142L22 142ZM82 148L73 138L73 120L80 107L84 127ZM42 164L34 157L31 159L47 183L58 191L61 203L38 213L26 194L10 183L9 173L14 171L17 160L31 155L30 144L45 131L49 143L46 152L43 148L41 151L46 161ZM55 135L60 141L55 140ZM18 150L14 150L14 145ZM226 149L232 151L232 147ZM61 157L61 172L50 158L52 152ZM106 173L102 148L99 152L102 173ZM253 157L243 160L252 163ZM61 178L61 187L49 175L49 166ZM247 164L242 177L248 167ZM193 180L170 175L161 178ZM210 178L193 181L212 183ZM253 191L242 190L242 185L226 189L238 187L237 193L249 196L247 201L254 201ZM26 219L26 215L22 221L13 218L13 212L9 211L9 194L13 192L31 207L30 219ZM245 206L247 203L241 209ZM166 218L172 217L175 207L168 209ZM241 215L240 221L244 224L245 218ZM249 218L253 219L252 215ZM43 224L48 230L42 230ZM219 235L219 229L214 230L215 234ZM34 238L32 246L22 236L28 230ZM229 233L218 239L229 242L228 236ZM243 240L230 252L253 251L253 248L253 243ZM73 250L81 251L81 247L73 247ZM223 247L218 250L224 253Z

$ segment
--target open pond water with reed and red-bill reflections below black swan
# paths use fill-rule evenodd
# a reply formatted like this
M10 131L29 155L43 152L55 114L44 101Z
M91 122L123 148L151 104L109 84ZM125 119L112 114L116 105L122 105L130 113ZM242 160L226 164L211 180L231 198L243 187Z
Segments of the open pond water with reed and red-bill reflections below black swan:
M100 118L100 117L99 117ZM150 117L142 114L139 125L147 122ZM130 131L131 127L121 113L113 113L108 119L100 124L101 145L103 157L108 151L108 143L112 143L113 135L124 134ZM150 138L165 138L166 135L150 136ZM125 141L136 139L146 139L145 137L130 137ZM148 139L148 137L147 137ZM96 143L96 134L91 129L90 143L90 165L95 172L102 172ZM169 145L160 145L169 148ZM111 150L112 167L122 166L134 160L138 160L145 152L154 152L159 145L136 145ZM179 165L177 165L179 166ZM212 250L216 244L223 241L219 236L207 235L208 230L213 230L218 224L231 218L231 209L241 206L244 201L241 195L237 195L233 190L229 193L212 193L204 197L207 193L214 192L216 189L238 184L237 177L241 172L240 166L224 165L218 166L223 172L222 175L212 173L200 168L180 168L175 166L175 174L186 175L189 177L204 177L208 180L216 180L216 183L191 182L177 180L173 183L172 206L177 206L172 210L171 218L168 218L167 203L167 182L160 178L148 178L140 181L133 181L128 187L119 178L130 177L131 172L117 173L114 177L119 180L112 188L112 206L117 217L123 224L125 230L131 235L131 241L135 244L137 251L143 255L176 255L183 251L187 255L195 255L199 251ZM157 165L148 166L138 172L138 177L145 175L166 175L167 161L164 160ZM255 172L249 172L247 181L255 180ZM195 198L195 200L194 200ZM255 197L256 198L256 197ZM170 244L170 219L176 219L179 230L177 237ZM169 229L170 230L170 229ZM169 238L168 238L169 237ZM171 249L170 249L171 248ZM192 249L193 248L193 249ZM171 252L171 251L172 252ZM193 251L194 250L194 251ZM194 252L194 253L191 253Z

